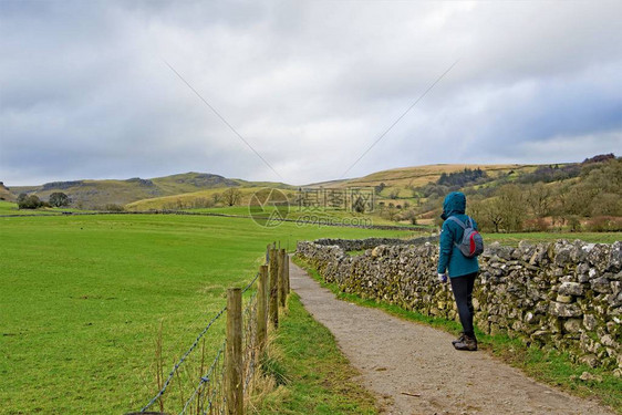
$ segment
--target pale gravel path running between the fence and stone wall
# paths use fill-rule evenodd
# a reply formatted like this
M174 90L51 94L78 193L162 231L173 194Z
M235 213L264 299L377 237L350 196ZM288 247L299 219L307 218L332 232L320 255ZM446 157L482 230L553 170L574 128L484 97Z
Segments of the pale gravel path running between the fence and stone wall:
M537 383L486 352L458 352L448 333L336 300L290 263L291 288L334 334L386 414L613 414Z

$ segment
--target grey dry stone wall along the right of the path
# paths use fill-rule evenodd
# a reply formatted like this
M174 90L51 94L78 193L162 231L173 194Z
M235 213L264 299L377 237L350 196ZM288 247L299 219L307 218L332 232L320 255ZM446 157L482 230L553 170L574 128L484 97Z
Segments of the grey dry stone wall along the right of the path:
M436 240L319 239L299 242L297 253L345 292L457 320L449 284L437 282ZM474 305L481 330L556 347L622 375L620 241L493 243L479 264Z

